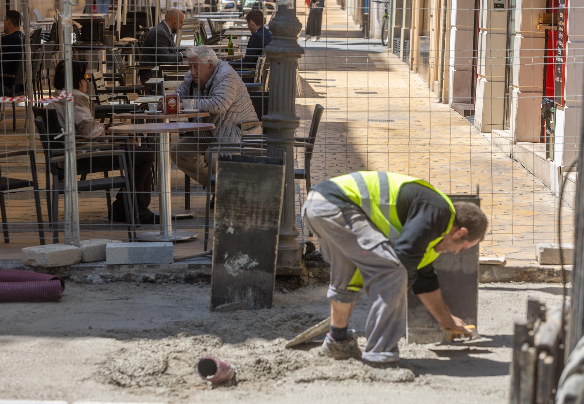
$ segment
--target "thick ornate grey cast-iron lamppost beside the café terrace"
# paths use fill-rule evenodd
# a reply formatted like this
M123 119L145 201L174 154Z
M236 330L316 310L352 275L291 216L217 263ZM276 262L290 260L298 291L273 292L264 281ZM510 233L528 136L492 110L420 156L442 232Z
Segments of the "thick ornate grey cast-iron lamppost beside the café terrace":
M304 50L298 45L302 24L296 18L294 1L277 2L277 12L270 20L272 42L266 46L270 61L269 109L262 118L267 132L267 155L286 156L286 182L278 242L279 267L294 267L301 258L296 241L296 206L294 204L294 131L300 124L296 116L296 68Z

